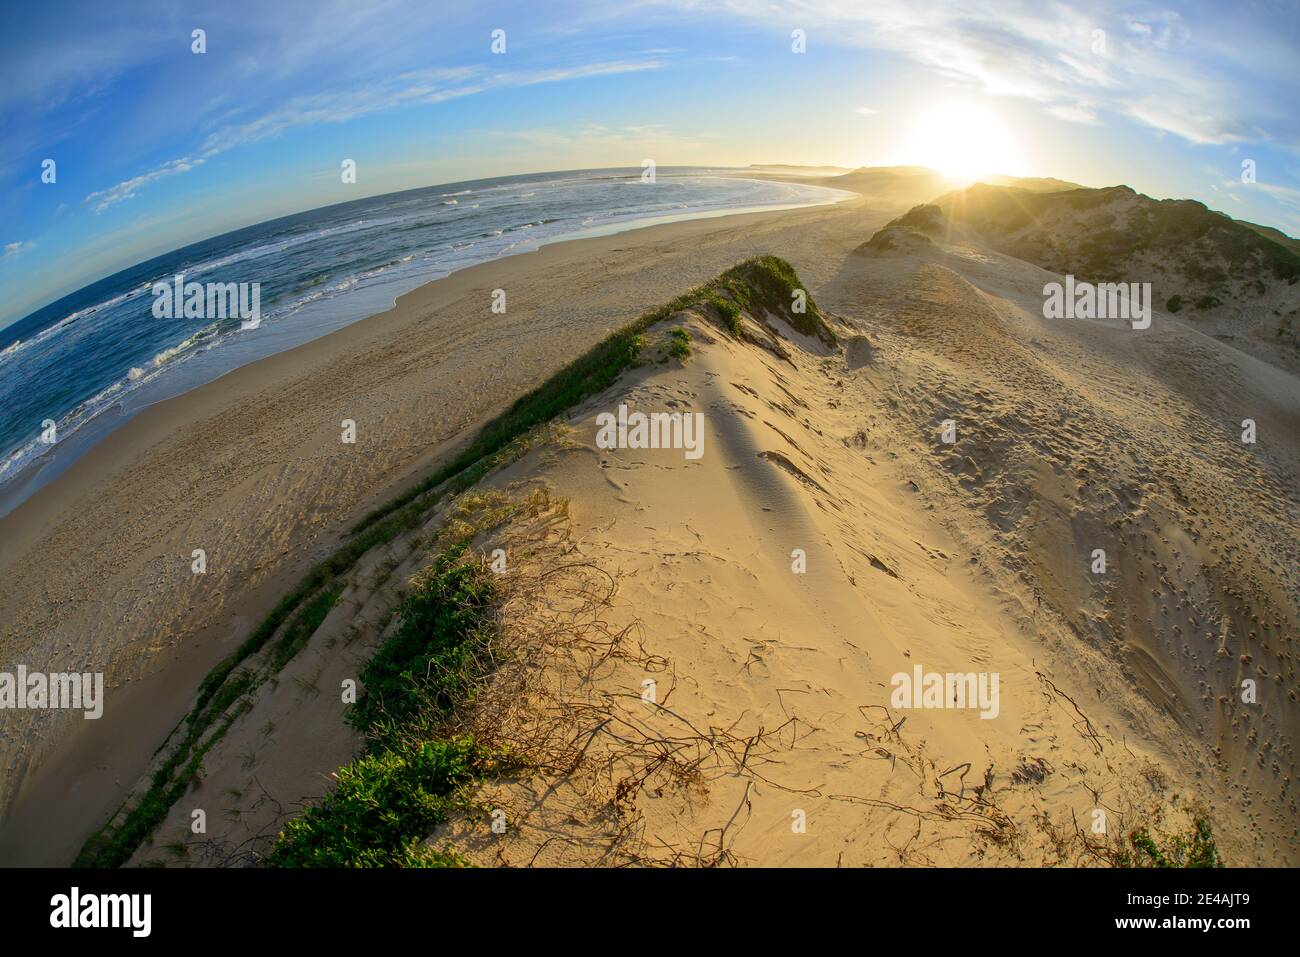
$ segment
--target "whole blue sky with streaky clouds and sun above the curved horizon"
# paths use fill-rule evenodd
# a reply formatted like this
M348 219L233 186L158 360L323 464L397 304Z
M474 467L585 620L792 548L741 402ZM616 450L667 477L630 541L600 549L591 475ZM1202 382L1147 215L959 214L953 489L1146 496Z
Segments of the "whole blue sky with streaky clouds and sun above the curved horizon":
M277 216L645 159L1126 183L1297 235L1296 104L1296 0L12 3L0 328Z

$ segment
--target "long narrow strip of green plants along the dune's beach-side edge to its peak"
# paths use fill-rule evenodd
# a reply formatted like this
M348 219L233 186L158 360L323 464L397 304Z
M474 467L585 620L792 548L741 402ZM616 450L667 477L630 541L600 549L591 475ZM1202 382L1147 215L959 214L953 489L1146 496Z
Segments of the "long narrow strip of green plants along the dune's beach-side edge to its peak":
M150 788L126 811L121 824L105 824L86 841L75 866L117 867L126 863L140 843L162 823L172 805L185 794L200 770L203 757L250 706L251 694L307 645L337 602L343 576L358 559L417 528L443 497L465 492L484 476L523 455L541 441L552 419L611 386L619 374L641 361L645 333L653 325L684 309L711 307L728 332L738 335L740 308L744 307L759 321L768 313L779 315L800 332L835 345L835 334L811 296L806 296L806 312L793 312L796 290L801 290L798 277L783 259L760 256L732 267L711 282L684 293L607 335L484 425L473 441L442 468L368 514L351 529L348 538L308 571L254 632L204 677L185 727L173 732L183 733L155 772ZM243 667L277 635L280 638L265 667ZM469 649L465 651L468 654ZM399 658L396 655L394 661ZM384 667L391 670L393 666L389 662ZM400 674L387 674L387 677L395 680ZM374 701L382 702L385 709L396 706L386 697L393 685L384 684L385 674L377 671L374 677L380 679L378 687L386 688Z

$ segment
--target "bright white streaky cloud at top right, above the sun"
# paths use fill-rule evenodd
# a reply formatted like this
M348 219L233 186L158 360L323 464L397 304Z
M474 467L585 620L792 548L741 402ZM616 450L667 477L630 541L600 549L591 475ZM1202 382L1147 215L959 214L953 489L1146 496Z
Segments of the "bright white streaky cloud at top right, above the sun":
M701 14L718 5L718 0L663 3ZM783 31L798 25L810 42L897 52L984 94L1041 103L1070 122L1093 124L1106 112L1193 143L1227 144L1260 133L1262 124L1247 116L1252 108L1261 113L1271 108L1252 100L1257 94L1243 90L1240 77L1214 69L1216 57L1227 60L1226 55L1242 68L1232 40L1193 34L1182 16L1167 10L1138 17L1114 5L1106 9L1108 4L1074 8L1041 0L996 8L963 0L723 3L732 17ZM1248 27L1242 21L1225 25L1238 29ZM1105 47L1097 46L1096 30L1105 31ZM1243 40L1256 40L1257 33L1236 36L1235 43L1244 47ZM1269 57L1283 57L1282 68L1290 69L1286 53L1273 49Z

